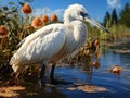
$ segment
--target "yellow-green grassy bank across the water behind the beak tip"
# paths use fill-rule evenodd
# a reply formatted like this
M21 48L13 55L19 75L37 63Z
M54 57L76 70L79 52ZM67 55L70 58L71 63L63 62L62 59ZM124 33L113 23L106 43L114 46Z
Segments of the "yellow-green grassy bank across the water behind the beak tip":
M116 41L125 38L130 38L130 28L125 25L113 25L106 27L110 34L106 34L99 28L88 26L89 37L90 38L100 38L101 40L106 41Z

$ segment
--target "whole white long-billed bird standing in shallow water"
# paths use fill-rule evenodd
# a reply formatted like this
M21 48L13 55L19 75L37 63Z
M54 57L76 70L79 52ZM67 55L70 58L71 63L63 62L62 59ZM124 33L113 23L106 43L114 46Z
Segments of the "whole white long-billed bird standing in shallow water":
M26 65L41 64L41 84L44 84L46 66L52 63L50 79L54 81L55 63L77 51L84 45L88 36L86 23L89 22L109 33L92 20L81 4L69 5L64 13L64 23L47 25L24 38L18 50L13 54L10 64L16 74L22 74Z

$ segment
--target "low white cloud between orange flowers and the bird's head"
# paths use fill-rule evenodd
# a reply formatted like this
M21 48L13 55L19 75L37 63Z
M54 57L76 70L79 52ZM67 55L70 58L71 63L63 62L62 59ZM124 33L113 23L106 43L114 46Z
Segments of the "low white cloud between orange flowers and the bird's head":
M63 20L63 13L64 9L57 9L57 10L51 10L50 8L42 8L42 9L34 9L32 16L43 16L43 14L47 14L48 16L51 16L53 13L57 15L60 20Z

